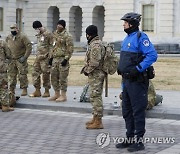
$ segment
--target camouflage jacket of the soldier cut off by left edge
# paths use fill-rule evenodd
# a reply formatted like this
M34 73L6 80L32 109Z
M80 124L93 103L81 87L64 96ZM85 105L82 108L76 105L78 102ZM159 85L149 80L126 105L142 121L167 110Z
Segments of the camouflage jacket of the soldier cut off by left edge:
M11 51L9 50L7 43L0 40L0 73L7 71L7 59L11 58Z

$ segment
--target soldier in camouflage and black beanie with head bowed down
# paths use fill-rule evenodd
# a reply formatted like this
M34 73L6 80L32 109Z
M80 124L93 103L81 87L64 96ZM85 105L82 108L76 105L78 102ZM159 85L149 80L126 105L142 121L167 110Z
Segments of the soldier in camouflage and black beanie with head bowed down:
M36 30L37 34L37 54L36 59L33 64L32 78L33 85L36 90L30 94L30 97L40 97L41 96L41 74L43 80L43 87L45 92L42 97L49 97L50 85L50 67L49 63L49 53L52 50L52 34L42 26L40 21L34 21L32 27Z

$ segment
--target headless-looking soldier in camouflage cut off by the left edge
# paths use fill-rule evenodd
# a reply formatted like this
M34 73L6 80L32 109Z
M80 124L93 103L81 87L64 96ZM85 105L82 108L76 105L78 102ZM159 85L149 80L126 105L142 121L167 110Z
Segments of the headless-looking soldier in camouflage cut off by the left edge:
M13 111L10 107L8 92L7 66L10 61L11 52L5 41L0 39L0 105L2 112Z

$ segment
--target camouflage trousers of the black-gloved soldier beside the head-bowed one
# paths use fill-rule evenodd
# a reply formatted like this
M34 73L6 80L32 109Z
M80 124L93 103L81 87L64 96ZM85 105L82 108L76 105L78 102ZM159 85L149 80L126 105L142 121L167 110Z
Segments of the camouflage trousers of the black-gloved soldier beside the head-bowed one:
M64 58L58 57L53 59L51 67L51 83L54 91L67 91L67 82L69 75L69 62L66 66L61 66Z

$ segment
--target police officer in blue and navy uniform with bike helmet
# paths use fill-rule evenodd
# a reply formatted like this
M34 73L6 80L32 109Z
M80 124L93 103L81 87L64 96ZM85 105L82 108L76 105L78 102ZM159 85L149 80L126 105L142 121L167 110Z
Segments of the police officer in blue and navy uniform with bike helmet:
M127 13L121 20L124 21L123 27L127 36L122 42L117 71L123 78L122 115L127 139L118 143L116 148L128 148L128 151L133 152L145 148L142 140L145 133L149 79L144 74L157 60L157 52L148 36L139 31L140 14Z

